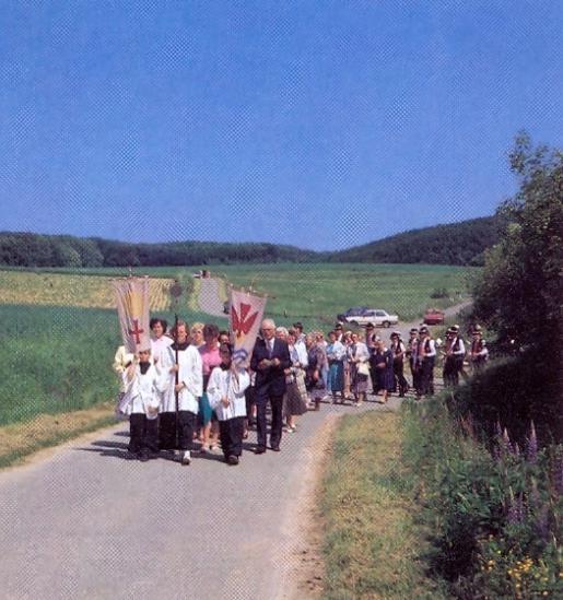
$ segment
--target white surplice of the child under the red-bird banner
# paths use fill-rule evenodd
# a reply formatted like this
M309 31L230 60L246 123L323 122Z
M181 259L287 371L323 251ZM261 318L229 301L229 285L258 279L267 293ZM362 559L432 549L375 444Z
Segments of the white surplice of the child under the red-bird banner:
M208 384L208 398L219 421L228 421L236 416L246 416L245 389L250 385L250 377L246 369L237 368L236 374L231 369L215 367L211 372ZM228 407L224 407L222 398L228 398Z

